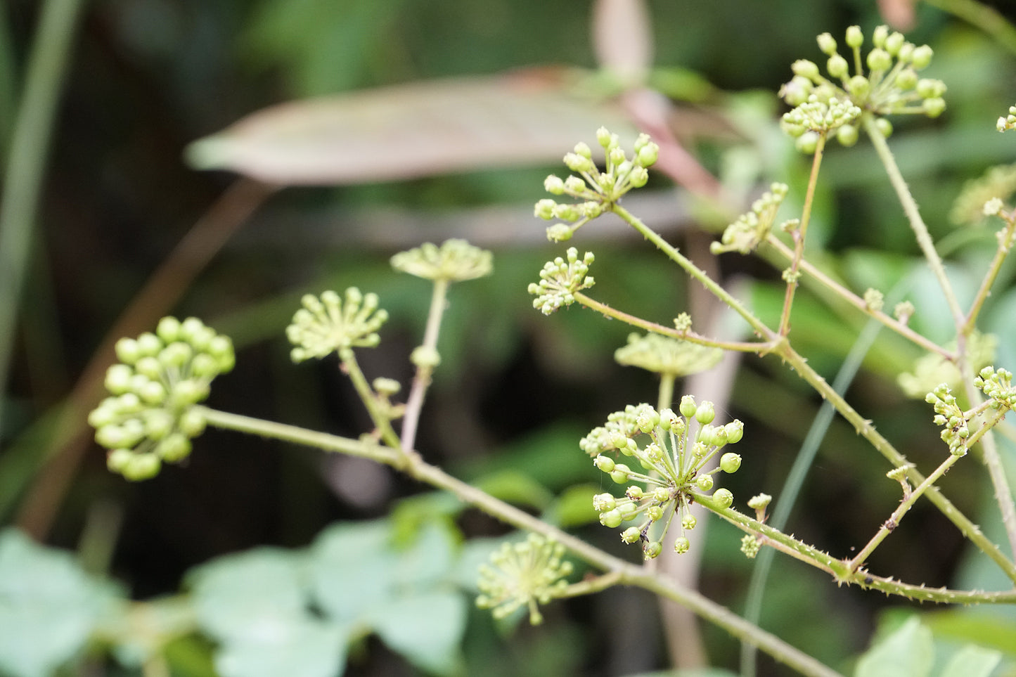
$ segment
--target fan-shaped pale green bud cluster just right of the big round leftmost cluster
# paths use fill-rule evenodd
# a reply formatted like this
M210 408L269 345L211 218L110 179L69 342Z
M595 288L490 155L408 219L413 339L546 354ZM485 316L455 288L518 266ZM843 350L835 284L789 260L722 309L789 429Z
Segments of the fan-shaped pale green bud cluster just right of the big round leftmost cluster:
M381 342L377 330L388 319L388 312L378 308L377 294L363 294L356 287L345 290L344 298L332 291L320 297L307 294L303 308L293 315L285 335L295 348L294 362L323 358L334 351L374 348Z

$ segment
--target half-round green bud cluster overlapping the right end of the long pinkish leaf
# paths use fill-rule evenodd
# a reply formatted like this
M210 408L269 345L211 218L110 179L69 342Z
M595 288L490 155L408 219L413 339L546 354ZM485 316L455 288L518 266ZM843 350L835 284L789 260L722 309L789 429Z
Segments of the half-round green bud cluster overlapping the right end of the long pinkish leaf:
M534 212L545 221L561 222L547 229L552 242L564 242L581 226L589 223L633 188L641 188L649 180L647 169L655 164L659 146L648 134L635 139L634 152L629 159L617 134L606 127L596 130L596 141L604 148L606 169L600 172L592 160L592 149L584 142L564 158L569 170L574 172L566 179L552 174L544 181L544 188L552 195L569 195L580 202L557 202L546 198L536 202Z

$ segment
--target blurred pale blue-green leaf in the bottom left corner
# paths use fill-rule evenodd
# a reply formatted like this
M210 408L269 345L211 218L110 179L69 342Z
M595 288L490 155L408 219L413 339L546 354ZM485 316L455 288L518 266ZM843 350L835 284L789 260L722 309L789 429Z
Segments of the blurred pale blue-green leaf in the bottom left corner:
M13 529L0 533L0 673L51 674L115 604L112 587L86 574L70 554Z

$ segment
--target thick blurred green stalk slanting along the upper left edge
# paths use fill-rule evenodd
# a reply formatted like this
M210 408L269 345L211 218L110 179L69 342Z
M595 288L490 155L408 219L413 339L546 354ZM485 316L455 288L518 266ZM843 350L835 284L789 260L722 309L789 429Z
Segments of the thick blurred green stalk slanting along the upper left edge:
M0 205L0 393L7 387L43 170L80 5L80 0L49 0L43 5L14 122ZM2 413L0 407L0 431Z

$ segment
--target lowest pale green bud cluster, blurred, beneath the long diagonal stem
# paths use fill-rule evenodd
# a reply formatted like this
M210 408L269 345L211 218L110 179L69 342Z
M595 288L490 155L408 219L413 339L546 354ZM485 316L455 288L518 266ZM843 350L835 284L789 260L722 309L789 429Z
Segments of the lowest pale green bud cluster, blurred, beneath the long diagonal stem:
M568 588L564 578L571 574L572 564L562 559L564 552L560 543L536 534L524 541L502 544L491 555L491 563L480 566L477 606L493 609L495 618L525 607L530 623L543 622L537 605L562 597Z

